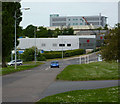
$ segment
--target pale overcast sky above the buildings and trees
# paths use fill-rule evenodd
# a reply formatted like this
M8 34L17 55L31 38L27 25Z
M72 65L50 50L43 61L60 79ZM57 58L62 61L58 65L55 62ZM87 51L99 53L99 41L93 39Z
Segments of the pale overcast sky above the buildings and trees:
M112 0L110 2L22 1L21 6L22 8L30 8L28 11L22 11L23 20L20 25L23 28L26 28L30 24L35 26L49 26L49 15L53 13L57 13L60 16L92 16L101 13L103 16L108 17L109 25L114 26L118 22L118 3L112 2Z

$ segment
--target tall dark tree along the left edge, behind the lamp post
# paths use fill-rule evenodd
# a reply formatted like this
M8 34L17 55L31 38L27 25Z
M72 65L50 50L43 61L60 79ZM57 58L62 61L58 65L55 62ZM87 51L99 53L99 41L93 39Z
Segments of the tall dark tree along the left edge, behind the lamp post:
M2 67L6 67L6 58L14 48L14 24L15 11L17 12L17 30L22 20L19 2L3 2L2 3ZM18 38L18 35L17 35ZM18 42L17 42L18 44Z

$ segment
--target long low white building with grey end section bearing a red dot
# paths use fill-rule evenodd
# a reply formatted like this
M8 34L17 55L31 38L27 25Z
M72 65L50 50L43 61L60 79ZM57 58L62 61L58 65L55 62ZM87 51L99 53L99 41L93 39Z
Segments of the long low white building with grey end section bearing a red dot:
M25 50L36 46L39 50L60 51L74 49L93 49L96 45L95 35L58 36L58 38L19 38L17 48Z

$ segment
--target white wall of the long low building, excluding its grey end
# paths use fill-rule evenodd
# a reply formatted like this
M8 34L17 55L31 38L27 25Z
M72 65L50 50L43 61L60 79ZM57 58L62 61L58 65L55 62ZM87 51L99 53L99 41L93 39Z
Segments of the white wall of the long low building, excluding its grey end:
M58 38L19 38L19 45L17 48L26 49L36 46L38 49L45 51L59 51L62 47L59 44L65 44L63 50L73 50L79 49L79 38L95 38L94 35L91 36L58 36ZM45 46L42 46L45 44ZM53 46L57 44L57 46ZM67 46L71 44L71 46Z

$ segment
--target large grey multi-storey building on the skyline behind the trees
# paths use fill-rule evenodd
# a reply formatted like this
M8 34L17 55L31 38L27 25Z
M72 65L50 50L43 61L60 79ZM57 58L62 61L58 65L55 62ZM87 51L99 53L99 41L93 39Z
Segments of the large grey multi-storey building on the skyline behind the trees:
M107 24L107 17L105 16L59 16L59 14L51 14L50 15L50 26L81 26L87 25L85 20L88 23L94 26L105 26Z

